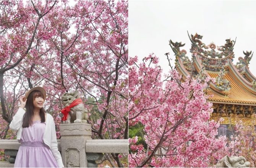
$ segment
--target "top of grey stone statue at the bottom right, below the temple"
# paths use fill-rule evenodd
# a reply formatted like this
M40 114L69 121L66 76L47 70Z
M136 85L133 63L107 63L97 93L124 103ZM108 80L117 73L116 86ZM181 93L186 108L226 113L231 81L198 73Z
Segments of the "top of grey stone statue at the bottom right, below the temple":
M220 159L216 167L249 167L250 162L246 162L245 157L242 156L231 156L226 155Z

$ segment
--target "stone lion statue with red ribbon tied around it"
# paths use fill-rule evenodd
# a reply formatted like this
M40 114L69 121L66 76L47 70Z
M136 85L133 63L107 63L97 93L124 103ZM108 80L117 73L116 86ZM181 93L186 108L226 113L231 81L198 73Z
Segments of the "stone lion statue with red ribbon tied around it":
M67 118L65 121L63 121L63 123L87 123L88 111L86 108L84 108L84 104L79 97L78 90L63 94L61 99L65 107L62 110L64 110L67 115ZM76 103L77 105L73 106L75 101L78 103Z

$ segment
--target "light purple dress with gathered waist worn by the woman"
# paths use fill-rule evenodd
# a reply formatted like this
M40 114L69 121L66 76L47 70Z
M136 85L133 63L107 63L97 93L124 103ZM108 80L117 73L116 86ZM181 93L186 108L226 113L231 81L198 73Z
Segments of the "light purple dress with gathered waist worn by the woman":
M58 167L49 146L44 144L45 123L33 121L33 125L22 129L14 167Z

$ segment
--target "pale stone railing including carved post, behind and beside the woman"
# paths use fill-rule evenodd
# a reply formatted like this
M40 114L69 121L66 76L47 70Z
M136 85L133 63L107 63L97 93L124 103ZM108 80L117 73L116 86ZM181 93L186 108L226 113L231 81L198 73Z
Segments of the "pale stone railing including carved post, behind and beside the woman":
M128 153L128 139L91 139L90 124L61 124L60 134L58 150L65 167L97 167L102 153ZM17 140L0 140L0 149L10 156L9 162L0 162L0 167L14 166L19 145Z

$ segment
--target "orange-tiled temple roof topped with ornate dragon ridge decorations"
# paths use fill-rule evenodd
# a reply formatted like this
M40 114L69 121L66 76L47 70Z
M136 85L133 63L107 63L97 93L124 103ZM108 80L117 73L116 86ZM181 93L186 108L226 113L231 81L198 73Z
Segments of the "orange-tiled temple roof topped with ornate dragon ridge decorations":
M189 35L189 34L188 34ZM189 36L192 59L181 50L185 44L172 42L170 46L176 55L175 68L183 76L192 75L194 78L215 78L207 89L207 94L213 95L209 100L213 103L256 106L256 78L249 70L253 53L243 52L245 57L239 57L239 62L233 64L233 47L236 40L227 39L226 44L216 46L213 42L205 45L201 42L203 36Z

